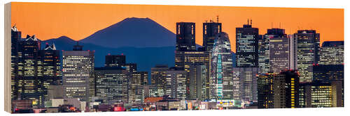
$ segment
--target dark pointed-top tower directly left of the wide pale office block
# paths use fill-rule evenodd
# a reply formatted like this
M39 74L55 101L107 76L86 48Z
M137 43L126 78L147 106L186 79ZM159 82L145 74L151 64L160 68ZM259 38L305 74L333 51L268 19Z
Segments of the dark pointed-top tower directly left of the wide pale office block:
M55 44L46 44L45 49L38 51L38 58L41 60L41 68L38 69L38 76L41 76L41 87L45 101L48 101L48 88L50 85L62 85L62 72L59 51Z

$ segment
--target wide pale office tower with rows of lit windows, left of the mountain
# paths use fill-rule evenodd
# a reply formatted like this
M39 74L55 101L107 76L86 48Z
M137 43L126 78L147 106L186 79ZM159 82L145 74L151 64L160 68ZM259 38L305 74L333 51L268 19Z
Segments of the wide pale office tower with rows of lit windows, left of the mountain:
M64 98L89 101L94 96L94 52L76 44L73 51L62 51Z

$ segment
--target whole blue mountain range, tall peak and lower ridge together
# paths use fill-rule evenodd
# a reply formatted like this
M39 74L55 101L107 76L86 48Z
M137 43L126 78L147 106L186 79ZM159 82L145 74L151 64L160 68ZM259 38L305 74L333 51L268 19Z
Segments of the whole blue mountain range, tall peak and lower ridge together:
M58 50L72 50L75 40L61 36L42 41L55 43ZM95 67L103 67L105 56L123 53L127 63L137 63L139 71L151 72L158 64L174 66L176 35L148 18L127 18L79 40L83 50L95 51ZM43 44L45 45L45 44ZM202 47L196 44L196 47ZM235 58L233 53L232 58ZM234 59L235 64L235 59Z

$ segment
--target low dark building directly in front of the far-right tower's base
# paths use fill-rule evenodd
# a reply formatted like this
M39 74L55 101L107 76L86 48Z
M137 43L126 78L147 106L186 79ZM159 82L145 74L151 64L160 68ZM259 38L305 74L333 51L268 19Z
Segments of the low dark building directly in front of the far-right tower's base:
M344 81L344 65L313 66L313 81L330 83L330 81Z

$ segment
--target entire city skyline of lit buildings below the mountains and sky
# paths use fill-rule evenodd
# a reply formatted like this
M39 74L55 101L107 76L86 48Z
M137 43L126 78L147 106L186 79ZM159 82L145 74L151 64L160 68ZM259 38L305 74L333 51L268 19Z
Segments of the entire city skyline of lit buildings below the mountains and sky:
M222 24L203 23L196 48L195 23L176 23L174 67L137 71L126 56L105 56L76 44L55 44L11 28L13 113L344 106L344 41L323 42L315 30L259 35L248 20L236 28L236 59ZM60 54L62 53L62 54ZM233 64L235 63L235 64Z

